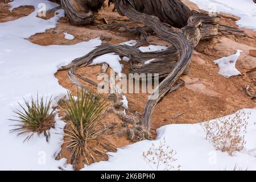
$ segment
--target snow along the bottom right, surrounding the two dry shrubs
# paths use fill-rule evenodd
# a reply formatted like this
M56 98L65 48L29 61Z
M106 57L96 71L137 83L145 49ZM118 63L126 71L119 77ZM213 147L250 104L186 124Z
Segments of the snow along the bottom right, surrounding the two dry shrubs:
M199 124L175 124L160 127L157 130L156 140L143 140L118 148L117 152L110 152L109 161L94 163L85 166L82 170L152 170L144 161L142 153L147 151L152 143L159 146L160 142L166 140L166 144L176 151L176 162L171 163L177 167L181 165L182 170L233 170L238 166L243 170L256 169L256 111L255 109L244 109L251 112L245 140L247 143L240 152L233 156L227 152L217 151L213 144L205 139L203 128ZM224 118L228 118L224 117Z

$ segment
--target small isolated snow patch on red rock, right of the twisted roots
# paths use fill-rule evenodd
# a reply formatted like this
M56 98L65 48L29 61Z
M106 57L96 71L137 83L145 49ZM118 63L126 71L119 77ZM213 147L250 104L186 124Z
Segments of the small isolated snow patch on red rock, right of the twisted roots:
M240 56L240 50L237 50L237 53L228 57L222 57L221 59L213 61L218 65L220 71L218 72L220 75L224 77L231 77L241 75L241 73L236 68L236 62L238 57Z

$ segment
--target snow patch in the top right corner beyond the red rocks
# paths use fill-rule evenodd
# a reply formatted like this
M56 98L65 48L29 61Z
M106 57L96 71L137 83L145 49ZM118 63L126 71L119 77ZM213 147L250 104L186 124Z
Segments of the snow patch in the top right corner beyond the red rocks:
M256 30L256 4L253 0L190 0L200 9L233 14L241 19L237 25Z

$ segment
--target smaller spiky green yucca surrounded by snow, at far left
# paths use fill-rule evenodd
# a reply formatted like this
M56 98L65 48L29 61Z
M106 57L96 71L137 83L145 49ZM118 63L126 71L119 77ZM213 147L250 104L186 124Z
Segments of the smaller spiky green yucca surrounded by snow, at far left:
M52 98L40 98L37 96L36 100L31 97L31 101L24 99L25 107L23 107L19 102L18 104L22 107L21 110L15 109L15 117L18 119L10 119L11 121L18 121L21 124L11 125L16 127L10 131L18 132L17 135L28 134L24 139L30 140L30 138L37 133L38 135L44 133L46 141L49 140L49 132L47 130L55 126L55 113L54 110L51 111Z

